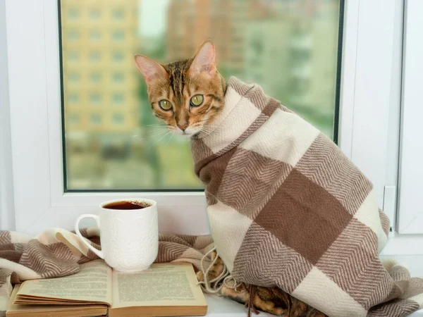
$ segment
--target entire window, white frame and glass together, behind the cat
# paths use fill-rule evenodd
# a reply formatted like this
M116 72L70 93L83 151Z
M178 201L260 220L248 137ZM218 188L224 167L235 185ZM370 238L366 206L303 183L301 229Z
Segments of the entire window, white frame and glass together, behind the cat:
M140 76L133 75L135 70L129 63L129 56L133 56L134 51L161 63L192 54L198 46L196 41L201 39L189 36L189 30L199 27L199 22L192 18L195 15L190 14L201 8L191 6L185 10L183 1L171 0L157 10L152 5L154 1L130 1L131 8L125 8L125 18L121 22L114 20L111 23L113 15L111 11L104 11L106 6L103 4L110 4L109 8L112 8L116 5L115 0L102 1L102 6L90 2L90 7L85 6L88 1L78 1L80 17L93 8L102 13L102 18L96 21L96 27L102 30L102 46L96 44L97 47L94 47L85 42L80 45L82 43L69 38L71 30L78 30L79 39L89 39L90 28L75 23L69 18L68 11L64 10L75 4L74 1L47 2L39 6L36 1L27 1L25 10L22 10L19 1L7 1L8 10L0 11L0 14L7 16L7 35L11 39L4 46L8 52L11 116L6 119L11 118L13 166L10 168L13 169L15 189L16 230L34 234L47 227L72 228L73 219L78 214L92 211L101 201L135 195L159 202L160 210L165 215L161 220L162 230L193 235L209 232L204 218L204 196L202 192L192 190L201 188L201 185L192 174L187 140L173 137L154 144L159 139L148 138L154 137L154 128L148 126L157 124L157 121L149 109L145 85ZM126 2L119 1L119 6L126 6ZM134 2L142 8L138 10ZM220 2L201 3L218 5ZM403 80L404 109L409 107L407 102L418 104L406 101L407 91L410 92L407 81L419 82L418 77L417 80L401 77L404 1L386 0L384 6L380 6L378 1L348 1L345 10L343 0L319 1L315 16L312 15L313 11L306 11L306 14L302 10L307 8L310 1L245 2L264 5L264 10L259 7L249 10L248 14L235 16L232 11L235 12L237 8L227 8L228 14L219 19L214 18L214 11L203 11L209 22L206 25L219 20L222 26L210 27L213 34L205 34L207 32L204 31L204 36L216 38L217 54L221 56L219 70L223 76L228 78L236 75L244 80L257 81L266 92L274 94L314 125L326 127L324 131L333 139L339 135L338 144L345 155L353 159L374 183L378 204L389 214L394 230L397 228L397 216L401 229L403 216L398 214L401 211L396 209L395 202L398 186L395 179L398 173L395 171L399 163L398 159L393 159L398 157L400 150L398 142L393 140L399 139ZM269 7L273 16L267 19L269 11L265 8ZM345 20L343 14L338 15L339 9L341 13L345 12ZM415 8L417 11L419 8ZM58 13L61 15L61 25L58 25ZM257 23L257 13L260 14L260 23ZM188 15L190 19L187 19ZM374 23L375 16L378 23ZM228 20L231 17L234 20ZM296 48L292 37L298 36L298 23L295 23L298 18L306 22L300 24L307 26L310 40L309 44L305 43L309 49L305 44L301 46L308 57L298 58L293 63L291 52ZM248 29L249 32L245 32L240 42L233 45L230 42L232 35L227 34L231 32L227 30L231 30L238 21L240 27L235 29ZM343 30L339 28L339 22ZM177 37L176 30L180 25L183 25L180 27L181 35ZM187 29L188 26L191 27ZM406 28L409 27L412 26L407 23ZM226 33L218 30L226 30ZM115 31L121 32L123 36L117 36L121 40L114 40L113 35L118 34ZM257 50L247 45L252 42L250 37L257 34L264 39L263 54L257 54ZM338 34L344 36L342 51L338 51ZM412 41L412 36L408 37L407 34L407 39ZM410 47L407 41L405 46ZM27 58L27 47L32 50L31 72L27 71L27 64L22 63ZM410 53L407 47L405 55L407 51ZM92 55L94 51L98 54ZM115 51L128 56L128 63L112 63L111 54ZM414 51L420 54L418 49ZM260 59L257 63L260 66L250 70L247 67L252 64L252 56ZM287 69L291 66L300 68L304 63L302 59L309 64L306 92L312 97L305 100L312 102L306 106L298 103L297 106L290 104L297 92L290 91L290 81L286 80L289 77L285 74L292 74ZM89 80L89 74L99 71L104 79L104 85L101 89L99 87L102 106L95 107L90 106L90 85L67 85L66 82L72 72L80 73L82 83L85 79ZM125 75L124 85L113 82L112 76L116 72ZM410 70L407 73L411 75ZM25 94L22 87L25 87ZM304 94L302 89L299 90ZM115 93L122 97L114 99ZM118 108L115 106L116 100L122 100ZM338 101L340 111L336 107ZM60 104L63 108L58 106ZM98 111L101 123L94 125L91 122L90 116L94 114L89 112L91 110ZM113 123L116 111L124 115L123 125ZM80 116L78 124L71 125L69 122L71 113ZM59 120L62 114L63 127L62 120ZM338 132L337 120L340 122ZM405 131L401 142L408 138L406 135L410 137L413 133ZM393 155L386 156L387 148ZM25 156L20 155L23 149L27 154ZM111 151L118 155L106 155ZM29 156L37 168L27 164ZM2 177L3 174L0 174ZM126 192L131 190L136 193ZM178 190L184 192L176 192ZM386 194L389 191L393 194ZM27 209L27 201L33 202L30 210ZM401 201L404 202L404 199L400 199L400 204ZM412 219L407 218L410 215L404 216L405 221ZM414 228L410 227L409 230L412 232ZM407 237L393 232L395 239L393 243L390 240L385 254L420 254L421 251L419 253L410 246L417 240L422 245L422 237Z

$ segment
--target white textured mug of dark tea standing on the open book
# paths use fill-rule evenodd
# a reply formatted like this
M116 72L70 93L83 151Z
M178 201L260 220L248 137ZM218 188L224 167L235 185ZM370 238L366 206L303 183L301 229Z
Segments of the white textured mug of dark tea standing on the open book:
M120 201L145 202L142 209L106 209ZM102 250L97 250L82 237L80 220L92 218L100 228ZM85 214L75 222L75 232L82 242L116 271L143 271L154 262L159 250L157 203L150 199L116 199L99 206L99 216Z

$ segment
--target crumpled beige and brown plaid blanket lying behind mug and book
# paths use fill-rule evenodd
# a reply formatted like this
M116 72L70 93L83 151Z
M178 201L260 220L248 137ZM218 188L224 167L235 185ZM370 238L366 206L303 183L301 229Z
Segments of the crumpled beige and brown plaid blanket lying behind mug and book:
M99 248L97 228L81 230ZM189 262L200 269L205 253L213 248L209 236L160 235L157 262ZM13 284L38 278L59 278L80 270L80 264L98 259L73 233L51 229L36 237L0 231L0 317L6 316ZM209 261L204 259L203 265Z

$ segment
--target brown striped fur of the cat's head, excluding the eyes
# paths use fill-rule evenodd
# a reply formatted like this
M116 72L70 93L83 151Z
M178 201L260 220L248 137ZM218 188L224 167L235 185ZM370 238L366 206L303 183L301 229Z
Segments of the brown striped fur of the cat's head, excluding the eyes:
M193 58L182 61L161 65L145 56L135 57L147 82L154 115L174 133L191 136L207 132L223 109L226 83L216 71L214 54L214 45L207 41ZM190 99L198 94L204 101L192 106ZM161 100L171 102L172 108L161 108ZM185 130L180 128L185 125Z

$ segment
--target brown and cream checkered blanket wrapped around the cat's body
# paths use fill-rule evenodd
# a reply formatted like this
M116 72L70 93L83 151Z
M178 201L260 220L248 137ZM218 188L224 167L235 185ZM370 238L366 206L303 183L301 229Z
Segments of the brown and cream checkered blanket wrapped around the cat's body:
M191 145L232 277L281 287L333 317L422 308L423 280L379 260L389 220L336 144L257 85L232 77L225 101Z

